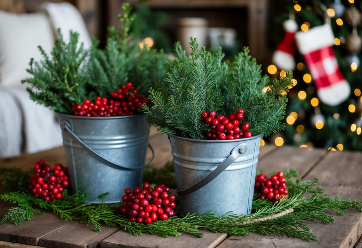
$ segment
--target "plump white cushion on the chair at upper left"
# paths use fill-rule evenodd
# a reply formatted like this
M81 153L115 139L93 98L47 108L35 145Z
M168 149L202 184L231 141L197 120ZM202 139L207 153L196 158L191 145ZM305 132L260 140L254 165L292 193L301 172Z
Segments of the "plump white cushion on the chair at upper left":
M50 53L54 32L45 12L14 14L0 10L0 87L20 86L30 77L30 58L42 59L38 46Z

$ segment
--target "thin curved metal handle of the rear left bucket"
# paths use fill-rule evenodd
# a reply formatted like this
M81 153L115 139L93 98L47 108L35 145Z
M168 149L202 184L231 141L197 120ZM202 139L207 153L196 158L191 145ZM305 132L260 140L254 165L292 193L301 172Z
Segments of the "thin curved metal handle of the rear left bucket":
M67 132L68 135L70 135L71 137L75 138L75 140L77 141L77 143L82 146L85 150L87 150L93 157L95 157L96 159L98 159L100 162L104 163L105 165L108 165L112 168L115 168L115 169L126 169L126 170L138 170L138 169L142 169L146 166L148 166L153 158L155 158L155 151L153 151L153 148L152 146L150 145L150 143L148 143L148 147L150 147L150 150L152 152L152 158L150 160L150 162L148 162L147 164L143 165L143 166L139 166L139 167L132 167L132 168L129 168L129 167L125 167L125 166L122 166L121 164L116 164L116 163L113 163L111 161L109 161L108 159L106 159L105 157L103 157L102 155L98 154L96 151L94 151L92 148L90 148L89 146L87 146L78 136L76 136L75 133L73 133L71 131L71 129L69 128L71 125L68 121L65 121L63 120L61 123L60 123L60 128L62 128L63 131Z

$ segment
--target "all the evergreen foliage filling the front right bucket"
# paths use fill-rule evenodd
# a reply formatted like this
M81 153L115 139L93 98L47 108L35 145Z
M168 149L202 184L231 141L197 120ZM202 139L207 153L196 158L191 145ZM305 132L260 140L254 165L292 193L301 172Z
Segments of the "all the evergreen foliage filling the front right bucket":
M265 136L284 128L287 98L282 94L291 87L292 73L274 80L269 90L263 87L269 78L261 75L260 65L244 48L235 61L222 62L221 48L214 54L191 38L191 54L185 55L180 43L175 44L176 58L166 64L163 80L150 90L153 106L142 106L148 123L156 125L165 135L204 139L209 127L203 122L202 111L214 110L226 115L243 108L243 121L250 124L253 135Z

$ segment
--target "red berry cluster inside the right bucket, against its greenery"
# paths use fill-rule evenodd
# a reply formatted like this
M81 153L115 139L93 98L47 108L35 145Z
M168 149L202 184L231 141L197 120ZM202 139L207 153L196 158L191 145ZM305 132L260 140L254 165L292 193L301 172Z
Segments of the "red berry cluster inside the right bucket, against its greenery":
M216 112L212 110L209 113L203 111L201 116L205 118L206 124L211 127L211 132L206 134L208 140L234 140L252 137L252 133L247 131L249 123L240 123L244 119L244 110L242 109L227 116L216 115Z

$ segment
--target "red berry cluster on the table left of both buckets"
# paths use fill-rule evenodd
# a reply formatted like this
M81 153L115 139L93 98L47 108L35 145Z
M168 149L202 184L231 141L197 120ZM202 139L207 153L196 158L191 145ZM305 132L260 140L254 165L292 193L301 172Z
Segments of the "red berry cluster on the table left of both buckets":
M69 185L68 168L62 164L55 164L51 170L44 159L34 163L34 173L31 174L31 184L29 190L35 198L41 196L45 201L55 201L63 197L64 188Z

